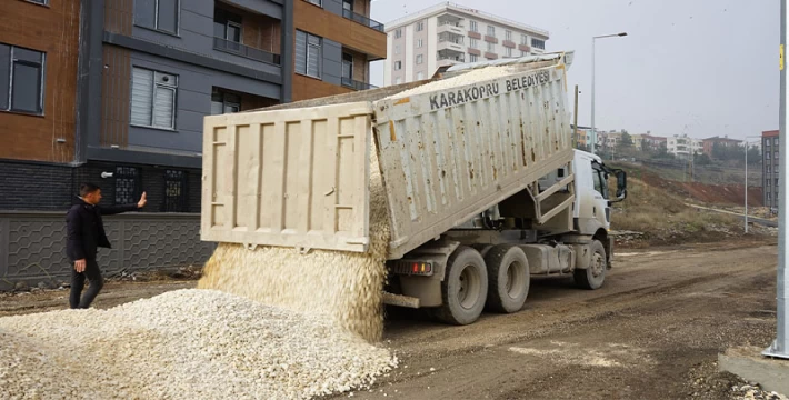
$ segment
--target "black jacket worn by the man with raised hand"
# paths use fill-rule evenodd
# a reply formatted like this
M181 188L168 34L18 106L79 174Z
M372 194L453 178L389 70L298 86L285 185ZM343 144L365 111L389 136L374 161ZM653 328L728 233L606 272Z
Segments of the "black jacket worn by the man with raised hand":
M133 210L137 210L137 204L101 207L88 204L79 199L79 203L71 206L66 214L66 256L72 261L96 260L100 247L108 249L112 247L107 239L101 216Z

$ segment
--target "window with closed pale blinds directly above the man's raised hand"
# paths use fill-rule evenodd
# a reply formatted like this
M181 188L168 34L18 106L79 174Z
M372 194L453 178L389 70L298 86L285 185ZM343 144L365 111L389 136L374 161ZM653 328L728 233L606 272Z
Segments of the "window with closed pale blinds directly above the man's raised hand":
M178 76L132 68L131 124L176 129Z

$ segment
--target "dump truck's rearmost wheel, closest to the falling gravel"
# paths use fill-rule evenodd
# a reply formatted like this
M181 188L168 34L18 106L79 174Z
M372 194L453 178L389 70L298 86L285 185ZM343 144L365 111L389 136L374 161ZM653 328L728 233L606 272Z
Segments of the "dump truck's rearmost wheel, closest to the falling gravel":
M447 261L441 282L442 304L436 317L451 324L469 324L482 313L488 296L488 271L479 252L459 247Z

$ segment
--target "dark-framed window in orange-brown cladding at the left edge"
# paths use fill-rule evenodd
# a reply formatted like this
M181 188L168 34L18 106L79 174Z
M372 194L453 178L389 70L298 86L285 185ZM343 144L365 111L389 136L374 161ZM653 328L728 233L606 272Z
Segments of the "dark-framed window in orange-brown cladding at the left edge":
M0 110L43 113L46 54L0 43Z

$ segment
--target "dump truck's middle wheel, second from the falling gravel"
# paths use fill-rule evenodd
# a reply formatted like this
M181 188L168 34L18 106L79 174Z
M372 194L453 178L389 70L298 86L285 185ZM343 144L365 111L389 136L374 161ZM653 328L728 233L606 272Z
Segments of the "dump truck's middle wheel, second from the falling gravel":
M499 244L485 257L488 266L488 308L497 312L517 312L529 296L529 260L517 246Z

